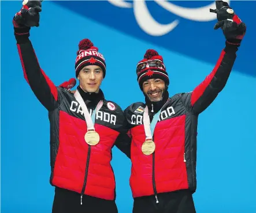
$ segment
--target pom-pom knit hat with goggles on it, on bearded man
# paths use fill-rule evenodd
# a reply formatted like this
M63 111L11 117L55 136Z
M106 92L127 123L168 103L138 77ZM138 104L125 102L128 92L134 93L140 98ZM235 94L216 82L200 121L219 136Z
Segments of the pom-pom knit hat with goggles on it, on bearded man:
M155 50L146 51L144 59L137 64L136 73L141 90L143 90L142 83L151 78L160 78L165 81L166 85L169 85L169 77L168 73L166 73L164 60Z

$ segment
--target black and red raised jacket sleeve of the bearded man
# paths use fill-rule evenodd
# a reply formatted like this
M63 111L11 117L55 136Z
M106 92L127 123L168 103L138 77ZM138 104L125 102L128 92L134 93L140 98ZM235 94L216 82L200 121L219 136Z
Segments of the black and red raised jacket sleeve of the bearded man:
M236 59L236 45L226 43L212 73L192 92L183 93L183 104L195 114L203 112L225 87Z

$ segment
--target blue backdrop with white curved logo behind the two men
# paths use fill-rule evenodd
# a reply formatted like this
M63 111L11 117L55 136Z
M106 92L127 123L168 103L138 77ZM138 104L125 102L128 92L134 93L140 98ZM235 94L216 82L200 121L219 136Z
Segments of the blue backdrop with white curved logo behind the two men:
M40 65L56 85L74 77L77 45L90 38L106 58L102 90L124 109L144 99L135 67L154 48L164 57L170 95L190 92L212 71L225 39L213 30L216 19L208 17L209 9L200 10L213 1L162 2L43 2L40 27L31 29ZM225 89L199 116L194 194L199 213L256 211L256 2L231 6L246 22L247 34ZM18 58L12 18L20 7L21 1L1 1L1 212L44 213L51 212L54 196L49 120ZM112 165L118 210L132 212L131 163L114 148Z

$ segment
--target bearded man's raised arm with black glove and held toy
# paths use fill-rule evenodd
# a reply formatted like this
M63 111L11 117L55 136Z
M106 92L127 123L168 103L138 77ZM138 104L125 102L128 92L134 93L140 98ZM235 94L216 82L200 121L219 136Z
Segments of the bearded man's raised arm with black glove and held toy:
M226 2L216 1L216 7L217 9L213 11L217 13L218 23L214 29L222 29L226 38L226 46L222 50L212 73L192 93L182 95L183 103L196 114L209 107L226 85L235 63L236 51L238 51L246 32L246 25L235 15Z

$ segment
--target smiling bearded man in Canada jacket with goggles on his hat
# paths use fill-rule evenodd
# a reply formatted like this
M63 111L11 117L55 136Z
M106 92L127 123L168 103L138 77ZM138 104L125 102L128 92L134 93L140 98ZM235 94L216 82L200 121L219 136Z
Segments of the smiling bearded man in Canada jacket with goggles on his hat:
M198 116L227 83L236 51L246 31L226 2L217 1L218 23L225 38L212 73L192 92L169 97L169 77L162 56L147 50L137 64L138 83L146 103L125 109L131 134L130 186L133 213L194 213L196 128Z

